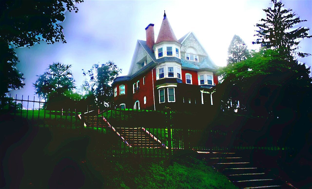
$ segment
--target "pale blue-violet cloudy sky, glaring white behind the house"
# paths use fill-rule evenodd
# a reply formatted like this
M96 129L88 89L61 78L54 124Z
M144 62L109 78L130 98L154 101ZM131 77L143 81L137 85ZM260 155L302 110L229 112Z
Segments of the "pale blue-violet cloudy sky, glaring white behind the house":
M75 84L83 81L82 69L88 70L95 63L113 60L127 75L136 41L145 40L145 27L154 23L155 40L166 10L171 27L179 39L193 31L217 66L225 66L227 49L234 35L240 36L248 49L257 29L254 25L265 18L262 9L271 7L271 1L100 1L85 0L79 3L78 13L66 12L64 27L67 43L45 44L16 50L20 62L18 70L24 74L25 86L12 90L11 96L33 99L32 85L36 75L44 73L49 64L71 64ZM293 9L301 20L299 26L312 28L312 0L284 0L285 8ZM310 29L310 35L312 31ZM300 42L300 50L312 54L312 38ZM312 56L301 58L311 66ZM37 96L35 97L37 99Z

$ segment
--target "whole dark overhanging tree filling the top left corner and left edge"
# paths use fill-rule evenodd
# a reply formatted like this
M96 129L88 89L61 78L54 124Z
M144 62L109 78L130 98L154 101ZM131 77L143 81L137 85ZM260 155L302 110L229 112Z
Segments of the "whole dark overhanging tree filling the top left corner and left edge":
M40 41L65 43L63 27L66 9L78 11L76 3L83 0L1 0L0 1L0 95L25 84L13 47L31 47ZM66 8L66 9L65 9Z

